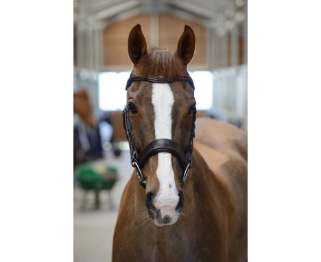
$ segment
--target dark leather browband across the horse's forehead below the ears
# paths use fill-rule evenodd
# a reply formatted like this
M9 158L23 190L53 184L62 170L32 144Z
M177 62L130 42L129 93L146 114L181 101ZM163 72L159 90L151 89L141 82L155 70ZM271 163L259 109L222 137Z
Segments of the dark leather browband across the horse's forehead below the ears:
M162 78L162 77L154 77L154 76L141 76L141 75L133 75L130 73L130 78L127 80L126 84L126 91L128 87L132 84L132 82L139 82L139 81L146 81L151 83L158 83L158 84L167 84L176 81L187 81L191 85L191 88L195 89L194 82L189 76L189 73L186 72L186 75L179 76L177 78Z

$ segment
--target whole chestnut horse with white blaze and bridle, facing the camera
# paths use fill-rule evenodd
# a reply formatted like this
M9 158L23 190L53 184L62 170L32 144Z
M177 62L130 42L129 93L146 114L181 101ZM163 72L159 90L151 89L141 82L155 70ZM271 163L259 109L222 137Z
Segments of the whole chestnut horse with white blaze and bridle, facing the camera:
M188 25L175 53L147 51L139 24L129 34L123 117L136 170L121 198L114 262L247 261L247 135L195 121L194 51Z

